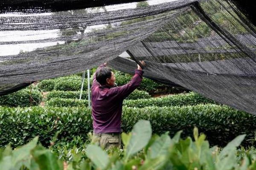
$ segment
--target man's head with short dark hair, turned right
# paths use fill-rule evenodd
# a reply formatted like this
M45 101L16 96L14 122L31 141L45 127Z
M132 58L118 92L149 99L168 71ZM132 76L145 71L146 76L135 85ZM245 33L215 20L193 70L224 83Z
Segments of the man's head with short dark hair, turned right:
M96 71L96 80L101 85L113 87L115 85L116 77L111 68L103 67Z

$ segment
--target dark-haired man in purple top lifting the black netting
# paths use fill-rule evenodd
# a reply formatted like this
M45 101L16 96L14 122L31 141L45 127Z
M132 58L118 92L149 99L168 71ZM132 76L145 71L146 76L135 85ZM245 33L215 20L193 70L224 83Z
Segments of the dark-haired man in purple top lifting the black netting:
M141 62L145 65L145 62ZM122 103L125 97L131 94L143 79L140 65L135 70L131 81L125 85L115 87L115 75L106 63L100 65L93 76L92 116L93 139L105 149L111 147L121 148L121 117Z

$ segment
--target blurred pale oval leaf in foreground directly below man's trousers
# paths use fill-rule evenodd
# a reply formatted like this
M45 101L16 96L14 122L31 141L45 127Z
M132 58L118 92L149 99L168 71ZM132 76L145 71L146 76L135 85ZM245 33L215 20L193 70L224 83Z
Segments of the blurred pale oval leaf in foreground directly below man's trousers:
M96 165L97 168L103 170L109 163L108 155L99 146L89 144L86 149L86 156Z

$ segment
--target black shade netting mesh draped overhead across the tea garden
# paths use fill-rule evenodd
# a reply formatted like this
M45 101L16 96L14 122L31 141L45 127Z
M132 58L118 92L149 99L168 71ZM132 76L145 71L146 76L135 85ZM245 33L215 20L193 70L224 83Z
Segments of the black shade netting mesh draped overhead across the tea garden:
M226 0L0 14L0 94L104 62L256 114L256 28ZM131 58L118 57L128 51Z

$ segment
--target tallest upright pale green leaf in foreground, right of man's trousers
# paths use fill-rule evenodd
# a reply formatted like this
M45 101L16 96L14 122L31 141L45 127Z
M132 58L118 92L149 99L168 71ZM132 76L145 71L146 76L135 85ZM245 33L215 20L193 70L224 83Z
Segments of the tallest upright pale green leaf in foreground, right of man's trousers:
M131 131L131 139L126 149L126 159L142 150L148 144L152 135L152 129L149 121L140 120L134 125Z

